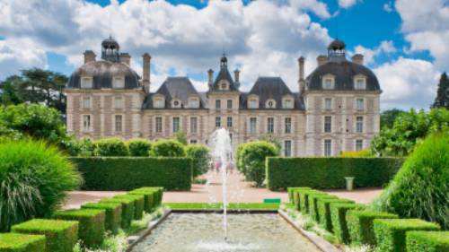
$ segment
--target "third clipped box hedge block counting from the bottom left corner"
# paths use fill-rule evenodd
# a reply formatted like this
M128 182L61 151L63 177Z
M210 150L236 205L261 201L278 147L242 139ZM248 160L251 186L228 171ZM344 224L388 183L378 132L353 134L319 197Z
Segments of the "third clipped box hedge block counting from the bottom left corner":
M75 209L58 211L54 217L79 222L78 237L86 248L97 248L104 239L105 211L101 209Z

